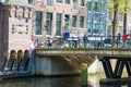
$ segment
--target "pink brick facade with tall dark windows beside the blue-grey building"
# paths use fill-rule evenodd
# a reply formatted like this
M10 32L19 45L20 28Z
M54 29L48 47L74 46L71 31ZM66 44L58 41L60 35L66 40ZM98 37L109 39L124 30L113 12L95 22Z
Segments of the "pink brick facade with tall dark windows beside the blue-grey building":
M33 36L41 39L83 37L86 32L86 0L34 0Z

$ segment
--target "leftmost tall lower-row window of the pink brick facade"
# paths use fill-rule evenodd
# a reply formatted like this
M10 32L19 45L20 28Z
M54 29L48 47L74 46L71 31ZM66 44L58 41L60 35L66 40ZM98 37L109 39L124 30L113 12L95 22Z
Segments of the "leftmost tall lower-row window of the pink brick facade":
M36 18L35 18L35 34L41 35L41 20L43 20L43 12L36 11Z

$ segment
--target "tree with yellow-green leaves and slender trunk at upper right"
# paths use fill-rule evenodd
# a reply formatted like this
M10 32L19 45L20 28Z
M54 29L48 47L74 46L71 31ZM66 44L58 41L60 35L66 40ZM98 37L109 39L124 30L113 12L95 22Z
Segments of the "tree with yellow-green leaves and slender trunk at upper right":
M117 18L118 18L118 12L124 13L124 17L127 17L127 11L128 9L131 9L131 0L108 0L108 9L109 11L112 11L112 47L115 42L115 35L116 35L116 28L117 28ZM126 21L126 20L124 20ZM126 23L123 24L126 29Z

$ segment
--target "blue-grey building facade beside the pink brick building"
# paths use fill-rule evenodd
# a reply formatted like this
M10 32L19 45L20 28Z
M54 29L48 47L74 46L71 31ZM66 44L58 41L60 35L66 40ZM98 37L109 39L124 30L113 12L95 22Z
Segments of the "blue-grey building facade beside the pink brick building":
M87 0L87 35L105 35L107 1Z

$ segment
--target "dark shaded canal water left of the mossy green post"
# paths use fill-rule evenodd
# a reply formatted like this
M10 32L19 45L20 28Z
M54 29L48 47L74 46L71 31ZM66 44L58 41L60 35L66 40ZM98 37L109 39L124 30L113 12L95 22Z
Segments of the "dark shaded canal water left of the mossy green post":
M0 87L81 87L80 77L33 77L4 79Z

